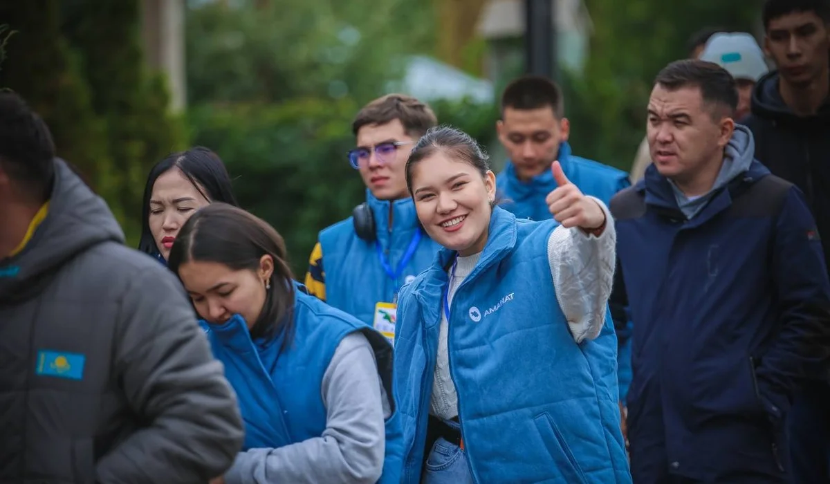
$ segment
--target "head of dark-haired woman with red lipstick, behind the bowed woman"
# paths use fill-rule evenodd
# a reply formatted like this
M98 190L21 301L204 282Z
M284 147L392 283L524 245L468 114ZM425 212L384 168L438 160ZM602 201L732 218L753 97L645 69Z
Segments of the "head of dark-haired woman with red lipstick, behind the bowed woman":
M144 186L139 251L166 261L184 222L213 202L238 205L222 159L202 146L168 154Z

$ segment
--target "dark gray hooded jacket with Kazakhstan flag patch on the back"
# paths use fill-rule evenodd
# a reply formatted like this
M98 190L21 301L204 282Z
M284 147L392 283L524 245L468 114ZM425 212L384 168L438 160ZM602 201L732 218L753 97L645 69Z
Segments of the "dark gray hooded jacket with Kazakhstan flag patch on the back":
M56 160L49 213L0 261L0 482L205 483L242 445L183 288Z

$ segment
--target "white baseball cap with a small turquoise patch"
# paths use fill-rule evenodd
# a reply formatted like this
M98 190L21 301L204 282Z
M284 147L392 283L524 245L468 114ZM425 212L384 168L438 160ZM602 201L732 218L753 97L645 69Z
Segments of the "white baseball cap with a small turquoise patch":
M746 32L716 33L706 42L701 61L714 62L735 79L758 82L769 71L764 52Z

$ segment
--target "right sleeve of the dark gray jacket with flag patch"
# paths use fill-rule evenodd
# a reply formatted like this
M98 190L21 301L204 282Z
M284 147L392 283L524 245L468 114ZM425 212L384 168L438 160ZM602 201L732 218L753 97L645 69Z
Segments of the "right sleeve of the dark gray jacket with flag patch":
M162 266L136 274L117 325L113 378L145 427L97 462L97 482L221 476L242 446L242 418L181 284Z

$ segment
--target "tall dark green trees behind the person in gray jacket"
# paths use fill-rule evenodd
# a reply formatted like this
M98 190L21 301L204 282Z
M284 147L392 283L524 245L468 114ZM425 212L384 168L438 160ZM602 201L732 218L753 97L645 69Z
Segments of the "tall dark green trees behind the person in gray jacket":
M2 2L7 43L0 86L46 120L58 155L110 204L130 245L140 232L150 167L182 149L187 127L168 112L164 77L144 66L139 1Z

